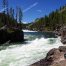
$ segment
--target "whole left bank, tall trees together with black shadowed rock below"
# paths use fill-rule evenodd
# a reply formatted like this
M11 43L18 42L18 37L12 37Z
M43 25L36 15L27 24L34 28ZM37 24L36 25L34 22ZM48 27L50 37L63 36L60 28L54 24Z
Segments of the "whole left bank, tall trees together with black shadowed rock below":
M15 9L8 8L8 0L2 0L3 11L0 13L0 45L9 41L23 42L24 34L22 31L22 10L20 7Z

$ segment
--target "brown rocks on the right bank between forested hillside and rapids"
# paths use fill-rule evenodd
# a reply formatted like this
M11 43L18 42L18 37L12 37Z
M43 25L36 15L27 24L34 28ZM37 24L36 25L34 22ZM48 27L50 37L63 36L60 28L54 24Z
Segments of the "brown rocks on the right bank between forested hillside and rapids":
M59 29L57 28L54 33L56 36L61 36L61 42L66 44L66 26L60 27Z

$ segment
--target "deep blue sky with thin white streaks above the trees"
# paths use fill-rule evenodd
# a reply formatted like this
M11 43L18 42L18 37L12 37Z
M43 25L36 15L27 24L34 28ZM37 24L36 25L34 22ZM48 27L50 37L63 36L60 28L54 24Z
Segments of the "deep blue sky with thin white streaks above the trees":
M52 11L66 4L66 0L8 0L9 7L21 7L23 11L23 22L33 22L36 18L49 15ZM3 11L2 0L0 0L0 12Z

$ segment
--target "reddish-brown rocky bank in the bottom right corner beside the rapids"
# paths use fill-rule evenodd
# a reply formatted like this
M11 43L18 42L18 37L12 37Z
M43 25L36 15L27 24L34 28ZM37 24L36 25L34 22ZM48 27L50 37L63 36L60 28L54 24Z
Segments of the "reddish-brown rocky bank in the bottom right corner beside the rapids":
M66 46L51 49L47 56L30 66L66 66Z

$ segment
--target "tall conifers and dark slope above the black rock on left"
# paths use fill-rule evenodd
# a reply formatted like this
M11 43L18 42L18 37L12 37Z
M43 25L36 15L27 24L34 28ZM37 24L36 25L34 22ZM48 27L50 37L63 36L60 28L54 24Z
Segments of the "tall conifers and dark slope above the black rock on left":
M10 7L8 0L2 1L3 11L0 12L0 28L7 25L8 30L9 29L20 29L22 30L22 10L20 7L16 7L15 9Z

